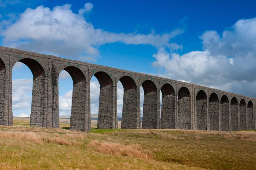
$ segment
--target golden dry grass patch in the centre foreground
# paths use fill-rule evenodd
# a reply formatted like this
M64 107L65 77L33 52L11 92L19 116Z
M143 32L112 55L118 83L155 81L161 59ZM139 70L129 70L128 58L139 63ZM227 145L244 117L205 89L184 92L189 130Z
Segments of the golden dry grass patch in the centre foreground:
M149 150L143 150L139 144L119 144L112 142L90 141L88 147L95 147L100 153L108 153L118 156L130 156L134 158L153 159L153 153Z

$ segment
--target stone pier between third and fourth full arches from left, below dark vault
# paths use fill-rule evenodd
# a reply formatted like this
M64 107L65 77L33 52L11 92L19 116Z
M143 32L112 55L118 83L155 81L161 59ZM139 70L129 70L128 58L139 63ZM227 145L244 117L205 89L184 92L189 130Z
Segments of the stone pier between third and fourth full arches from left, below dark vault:
M115 89L112 85L100 87L98 129L117 128L117 113L114 107L116 105Z

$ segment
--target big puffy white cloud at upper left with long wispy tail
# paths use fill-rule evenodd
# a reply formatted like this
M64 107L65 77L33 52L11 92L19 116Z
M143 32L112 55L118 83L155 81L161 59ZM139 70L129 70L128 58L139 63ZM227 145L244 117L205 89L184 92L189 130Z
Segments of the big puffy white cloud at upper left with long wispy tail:
M19 19L2 30L4 45L90 60L99 57L99 46L113 42L152 45L156 48L163 46L171 50L182 48L170 42L173 37L183 33L179 28L163 34L125 34L96 29L81 15L92 8L91 3L86 3L79 14L71 10L70 4L55 6L53 9L44 6L27 8Z

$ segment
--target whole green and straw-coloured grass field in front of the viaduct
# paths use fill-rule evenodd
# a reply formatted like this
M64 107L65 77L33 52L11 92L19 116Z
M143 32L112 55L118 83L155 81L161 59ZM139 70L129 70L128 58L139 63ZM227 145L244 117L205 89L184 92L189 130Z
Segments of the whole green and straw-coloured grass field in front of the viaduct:
M0 126L0 170L255 170L256 131Z

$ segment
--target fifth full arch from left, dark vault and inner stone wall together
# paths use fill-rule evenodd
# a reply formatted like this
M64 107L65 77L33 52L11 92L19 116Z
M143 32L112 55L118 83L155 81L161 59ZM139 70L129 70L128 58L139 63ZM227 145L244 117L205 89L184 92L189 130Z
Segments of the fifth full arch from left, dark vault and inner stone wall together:
M142 128L157 129L160 125L160 96L157 87L151 80L145 80L141 86L144 90Z

